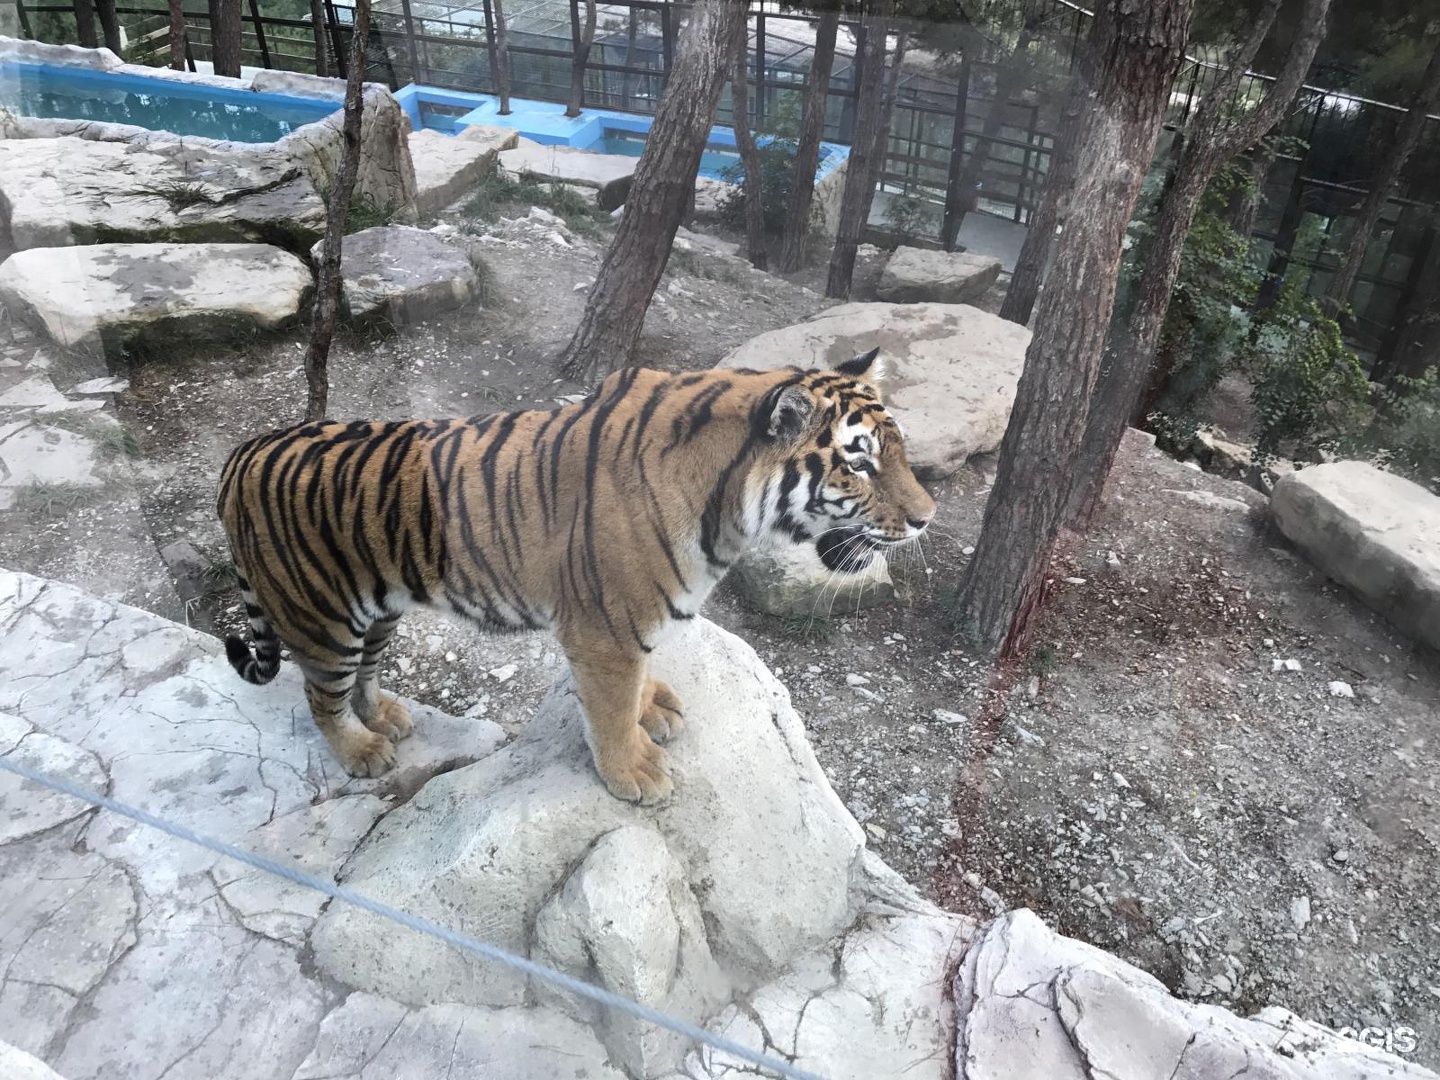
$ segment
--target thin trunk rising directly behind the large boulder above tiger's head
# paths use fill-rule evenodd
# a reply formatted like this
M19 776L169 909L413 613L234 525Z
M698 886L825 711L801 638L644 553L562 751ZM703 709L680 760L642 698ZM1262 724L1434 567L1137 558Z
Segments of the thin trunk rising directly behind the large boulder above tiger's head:
M840 228L829 253L829 275L825 295L835 300L850 297L850 282L855 275L855 252L865 235L870 206L876 199L877 157L884 156L880 132L886 111L886 36L890 32L891 0L878 0L861 20L864 40L860 46L860 101L855 104L855 130L850 143L850 163L845 190L840 199Z

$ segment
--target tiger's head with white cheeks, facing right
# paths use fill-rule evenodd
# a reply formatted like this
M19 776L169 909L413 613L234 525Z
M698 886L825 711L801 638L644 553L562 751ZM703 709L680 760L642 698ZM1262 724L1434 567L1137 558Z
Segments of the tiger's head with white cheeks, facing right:
M759 471L759 531L814 543L831 570L914 540L935 500L910 471L904 438L880 399L880 350L772 389L756 422L772 448Z

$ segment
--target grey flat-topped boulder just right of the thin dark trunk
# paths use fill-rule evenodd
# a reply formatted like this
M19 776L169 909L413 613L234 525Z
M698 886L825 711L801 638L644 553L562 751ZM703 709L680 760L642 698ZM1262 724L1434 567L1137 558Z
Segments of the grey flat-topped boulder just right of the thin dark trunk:
M318 265L321 240L311 251ZM383 225L346 236L340 248L340 304L354 323L386 320L395 325L449 311L475 295L478 279L469 256L435 233Z

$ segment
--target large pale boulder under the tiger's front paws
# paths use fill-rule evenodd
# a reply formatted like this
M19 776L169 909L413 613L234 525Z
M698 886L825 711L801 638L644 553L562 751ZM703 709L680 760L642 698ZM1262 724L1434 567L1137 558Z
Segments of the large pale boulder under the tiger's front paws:
M674 628L651 660L685 704L670 802L606 792L566 681L510 746L386 815L347 884L693 1021L841 933L863 834L785 688L704 619ZM373 948L377 935L393 946ZM531 994L513 972L354 909L331 906L311 943L327 973L412 1005ZM612 1043L626 1031L605 1028ZM655 1068L680 1051L647 1040L642 1057Z

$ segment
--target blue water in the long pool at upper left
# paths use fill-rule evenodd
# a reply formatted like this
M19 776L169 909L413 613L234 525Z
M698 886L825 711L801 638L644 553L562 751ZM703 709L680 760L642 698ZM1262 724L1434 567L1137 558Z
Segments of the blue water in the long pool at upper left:
M98 120L233 143L274 143L337 108L328 101L40 63L0 63L0 105L22 117Z

